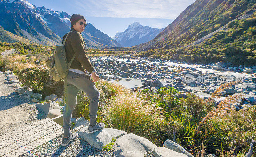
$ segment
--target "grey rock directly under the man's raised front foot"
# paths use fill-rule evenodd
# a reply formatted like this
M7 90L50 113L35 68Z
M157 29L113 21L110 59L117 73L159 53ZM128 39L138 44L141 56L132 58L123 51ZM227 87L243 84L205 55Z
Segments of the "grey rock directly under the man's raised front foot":
M111 135L104 129L89 133L88 126L84 126L78 131L78 134L83 137L85 141L88 142L91 146L94 146L100 150L112 141Z

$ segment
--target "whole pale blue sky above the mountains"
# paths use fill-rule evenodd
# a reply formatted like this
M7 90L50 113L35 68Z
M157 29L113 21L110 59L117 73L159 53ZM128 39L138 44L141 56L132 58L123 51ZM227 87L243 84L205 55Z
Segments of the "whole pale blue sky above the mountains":
M110 37L123 32L130 24L140 22L153 28L169 25L195 0L27 0L69 15L82 14L87 22Z

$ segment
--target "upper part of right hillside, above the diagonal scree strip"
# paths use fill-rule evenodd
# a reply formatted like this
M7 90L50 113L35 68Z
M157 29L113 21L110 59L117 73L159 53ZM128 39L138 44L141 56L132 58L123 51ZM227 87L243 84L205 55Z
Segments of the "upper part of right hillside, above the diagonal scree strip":
M255 0L196 0L153 40L134 49L186 46L255 8Z

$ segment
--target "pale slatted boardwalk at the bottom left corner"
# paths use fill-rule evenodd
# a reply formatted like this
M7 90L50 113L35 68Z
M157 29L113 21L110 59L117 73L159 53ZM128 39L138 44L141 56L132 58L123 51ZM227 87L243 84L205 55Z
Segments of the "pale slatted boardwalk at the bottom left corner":
M57 118L62 120L61 116ZM0 157L18 157L28 152L31 153L32 149L63 135L62 126L54 120L56 118L45 118L1 135ZM78 131L81 127L72 130L72 132Z

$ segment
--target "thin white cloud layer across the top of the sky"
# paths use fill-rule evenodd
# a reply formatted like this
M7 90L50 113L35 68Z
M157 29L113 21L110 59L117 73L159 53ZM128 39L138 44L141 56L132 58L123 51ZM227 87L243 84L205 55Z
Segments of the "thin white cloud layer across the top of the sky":
M195 0L74 0L74 10L90 17L175 19Z

